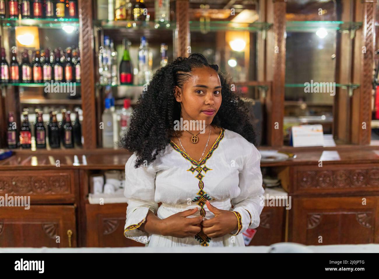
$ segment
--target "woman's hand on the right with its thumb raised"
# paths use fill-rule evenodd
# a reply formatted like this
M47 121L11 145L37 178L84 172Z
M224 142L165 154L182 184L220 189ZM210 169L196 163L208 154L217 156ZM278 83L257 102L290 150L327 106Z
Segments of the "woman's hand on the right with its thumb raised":
M206 202L209 211L215 214L212 219L201 222L203 232L210 238L227 235L235 229L238 229L238 220L235 214L230 210L221 210Z

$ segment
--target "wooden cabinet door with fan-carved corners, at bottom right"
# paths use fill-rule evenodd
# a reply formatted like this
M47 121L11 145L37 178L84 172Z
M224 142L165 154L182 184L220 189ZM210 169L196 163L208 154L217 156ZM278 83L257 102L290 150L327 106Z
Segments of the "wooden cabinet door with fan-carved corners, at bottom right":
M293 197L288 241L305 245L379 243L379 197Z

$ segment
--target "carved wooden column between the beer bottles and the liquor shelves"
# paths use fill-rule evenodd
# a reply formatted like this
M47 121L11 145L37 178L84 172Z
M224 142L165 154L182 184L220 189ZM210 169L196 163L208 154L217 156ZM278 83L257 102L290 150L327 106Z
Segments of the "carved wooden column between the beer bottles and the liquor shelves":
M95 80L94 80L94 36L92 32L92 0L79 0L80 57L81 57L81 107L83 109L82 133L84 148L96 148Z

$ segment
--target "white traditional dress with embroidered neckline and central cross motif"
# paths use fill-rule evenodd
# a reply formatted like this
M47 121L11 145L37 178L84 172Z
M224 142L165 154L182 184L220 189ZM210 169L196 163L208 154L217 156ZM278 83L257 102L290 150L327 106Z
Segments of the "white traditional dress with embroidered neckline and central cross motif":
M258 227L263 209L261 155L240 134L220 129L220 134L202 161L197 162L174 142L149 165L134 168L136 155L125 164L127 198L124 235L149 247L244 246L242 232ZM203 231L196 236L177 238L139 230L148 210L164 219L180 211L200 207L194 218L211 219L205 200L221 210L231 210L238 219L238 229L218 238ZM161 206L158 208L158 203Z

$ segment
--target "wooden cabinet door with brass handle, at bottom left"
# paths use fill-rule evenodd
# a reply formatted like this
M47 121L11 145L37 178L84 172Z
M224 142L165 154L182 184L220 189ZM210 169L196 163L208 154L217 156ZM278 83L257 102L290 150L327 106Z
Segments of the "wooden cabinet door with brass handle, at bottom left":
M77 247L73 205L5 206L0 247Z

